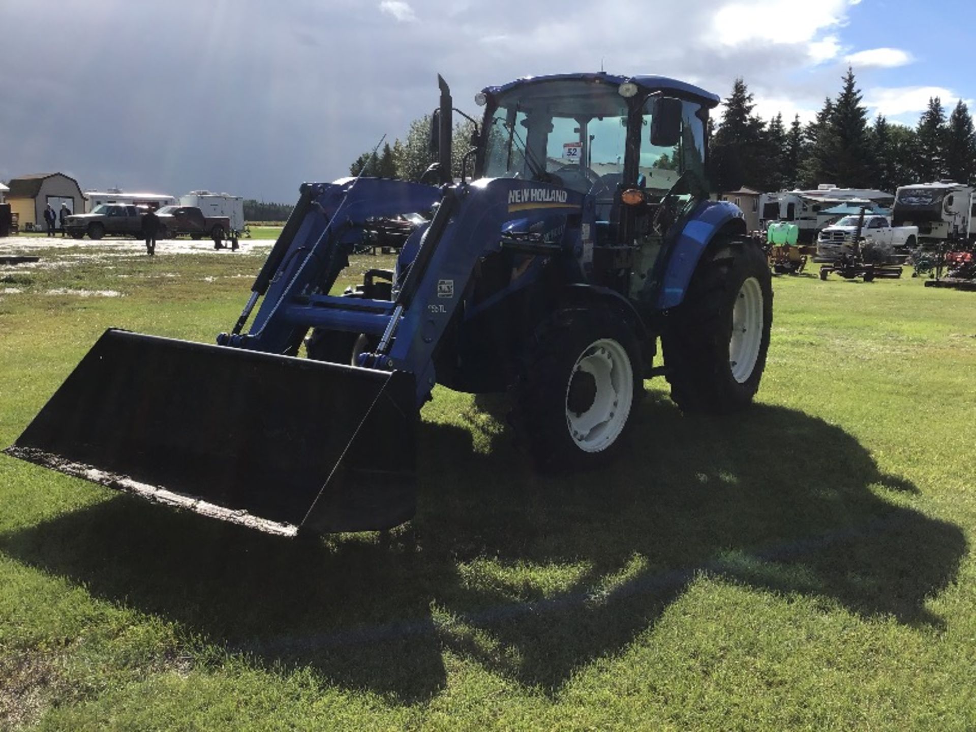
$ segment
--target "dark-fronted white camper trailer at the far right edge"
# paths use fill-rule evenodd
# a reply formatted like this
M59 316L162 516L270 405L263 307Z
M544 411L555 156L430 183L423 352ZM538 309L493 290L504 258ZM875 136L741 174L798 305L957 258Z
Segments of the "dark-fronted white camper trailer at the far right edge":
M973 188L962 183L915 183L895 193L896 226L917 226L922 246L971 240L976 234Z

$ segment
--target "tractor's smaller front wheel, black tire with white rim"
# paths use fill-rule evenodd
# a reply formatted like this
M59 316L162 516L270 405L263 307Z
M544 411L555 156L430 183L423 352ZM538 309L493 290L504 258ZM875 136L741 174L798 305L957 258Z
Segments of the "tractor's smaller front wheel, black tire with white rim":
M564 309L539 326L514 388L512 422L537 467L604 465L621 449L642 388L630 326L605 307Z

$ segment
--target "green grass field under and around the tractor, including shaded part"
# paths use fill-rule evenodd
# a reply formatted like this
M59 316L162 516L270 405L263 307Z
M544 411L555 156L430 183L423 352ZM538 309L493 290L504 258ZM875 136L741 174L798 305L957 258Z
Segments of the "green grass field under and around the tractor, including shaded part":
M262 263L102 251L0 269L3 446L105 328L212 343ZM502 400L438 388L386 534L289 542L0 456L0 728L976 728L976 295L774 286L754 408L648 383L602 473L536 475Z

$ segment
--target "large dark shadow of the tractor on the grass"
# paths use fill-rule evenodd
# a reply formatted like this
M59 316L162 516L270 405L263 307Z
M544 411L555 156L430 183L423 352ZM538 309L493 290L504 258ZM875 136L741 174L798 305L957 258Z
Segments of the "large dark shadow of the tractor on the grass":
M915 486L843 430L767 406L681 417L664 397L636 418L629 454L561 478L534 473L497 425L488 454L466 429L425 425L418 515L379 536L288 541L119 496L0 550L256 663L401 703L443 688L445 648L556 693L701 572L940 627L924 602L956 577L965 539L885 501ZM569 579L544 588L550 571Z

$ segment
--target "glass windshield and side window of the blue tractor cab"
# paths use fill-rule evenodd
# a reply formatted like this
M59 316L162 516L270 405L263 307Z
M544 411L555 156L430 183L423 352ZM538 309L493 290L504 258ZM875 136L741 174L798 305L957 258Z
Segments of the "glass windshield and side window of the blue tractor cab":
M704 176L700 105L683 102L680 142L651 145L655 96L641 118L639 173L649 190L666 191L686 170ZM517 86L488 110L483 174L549 180L582 193L616 188L627 155L628 101L615 84L558 80Z

